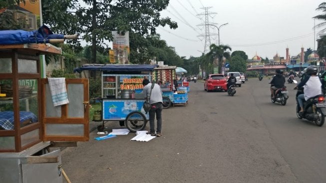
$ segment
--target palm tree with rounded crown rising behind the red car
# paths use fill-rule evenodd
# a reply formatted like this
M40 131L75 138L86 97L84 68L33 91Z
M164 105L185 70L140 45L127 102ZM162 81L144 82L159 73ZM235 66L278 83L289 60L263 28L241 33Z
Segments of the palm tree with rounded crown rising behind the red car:
M209 61L208 63L213 64L214 60L218 59L219 73L222 73L223 57L226 59L231 57L231 53L228 51L232 51L231 47L223 44L220 44L219 46L216 44L211 44L209 48L210 51L206 55Z

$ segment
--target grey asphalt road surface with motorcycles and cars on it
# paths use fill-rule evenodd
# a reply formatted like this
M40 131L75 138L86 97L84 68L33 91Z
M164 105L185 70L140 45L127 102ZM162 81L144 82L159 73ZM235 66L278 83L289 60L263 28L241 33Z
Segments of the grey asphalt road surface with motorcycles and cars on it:
M267 77L249 79L235 96L190 82L188 104L163 110L163 136L97 141L95 130L62 151L63 168L72 182L326 182L325 126L297 118L287 85L283 106L270 101Z

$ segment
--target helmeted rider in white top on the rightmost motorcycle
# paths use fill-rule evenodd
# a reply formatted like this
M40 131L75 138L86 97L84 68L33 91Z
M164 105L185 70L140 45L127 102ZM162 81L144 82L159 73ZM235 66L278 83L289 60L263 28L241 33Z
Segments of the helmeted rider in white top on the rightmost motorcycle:
M314 97L319 94L323 94L322 92L322 82L319 76L317 75L318 68L314 65L310 65L307 68L306 74L307 76L303 81L301 81L296 88L304 87L304 93L299 94L297 99L301 110L299 112L304 111L303 101L308 100L311 97Z

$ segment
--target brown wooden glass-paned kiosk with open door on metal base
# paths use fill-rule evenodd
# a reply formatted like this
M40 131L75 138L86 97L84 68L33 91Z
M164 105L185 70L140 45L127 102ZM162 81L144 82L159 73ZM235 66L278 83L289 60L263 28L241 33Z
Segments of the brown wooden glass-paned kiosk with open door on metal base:
M40 54L49 43L0 45L0 182L62 182L60 146L88 141L88 79L66 78L68 104L54 106Z

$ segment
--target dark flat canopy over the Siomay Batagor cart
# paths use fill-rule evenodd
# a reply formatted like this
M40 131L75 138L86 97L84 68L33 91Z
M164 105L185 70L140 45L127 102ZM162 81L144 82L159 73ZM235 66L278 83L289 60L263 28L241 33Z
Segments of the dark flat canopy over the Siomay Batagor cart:
M83 70L94 71L153 71L158 65L151 64L84 64L82 67L73 69L81 73Z

